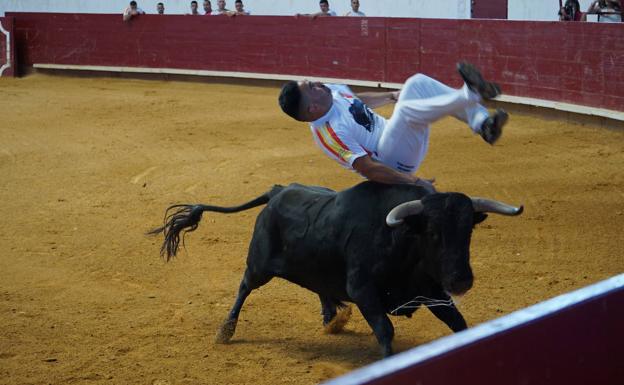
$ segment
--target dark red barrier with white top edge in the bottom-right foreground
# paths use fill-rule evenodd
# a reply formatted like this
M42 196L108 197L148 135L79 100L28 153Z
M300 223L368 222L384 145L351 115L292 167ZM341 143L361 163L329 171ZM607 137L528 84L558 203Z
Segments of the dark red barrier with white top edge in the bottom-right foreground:
M623 278L563 294L326 385L621 384Z

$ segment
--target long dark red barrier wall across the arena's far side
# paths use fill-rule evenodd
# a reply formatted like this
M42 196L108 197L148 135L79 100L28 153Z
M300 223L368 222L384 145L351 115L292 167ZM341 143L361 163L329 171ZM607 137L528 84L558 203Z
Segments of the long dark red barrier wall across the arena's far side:
M458 86L469 60L508 95L624 111L620 24L397 18L7 13L18 61L201 69Z

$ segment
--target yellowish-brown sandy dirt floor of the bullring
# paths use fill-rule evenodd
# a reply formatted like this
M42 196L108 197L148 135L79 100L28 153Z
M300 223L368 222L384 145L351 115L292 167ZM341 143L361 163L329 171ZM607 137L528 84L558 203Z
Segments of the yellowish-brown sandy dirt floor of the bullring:
M275 279L232 343L232 305L259 209L206 214L159 258L173 203L233 205L276 183L360 181L283 116L275 86L35 74L0 79L1 384L315 384L380 358L357 310L326 335L317 296ZM381 113L389 115L391 107ZM472 241L470 325L624 271L624 130L515 114L494 147L436 123L420 170L444 191L524 204ZM450 331L393 318L403 351Z

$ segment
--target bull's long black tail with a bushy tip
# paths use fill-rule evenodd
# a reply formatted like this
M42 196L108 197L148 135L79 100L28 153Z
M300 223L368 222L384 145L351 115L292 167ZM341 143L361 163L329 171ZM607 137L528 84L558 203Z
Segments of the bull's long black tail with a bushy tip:
M160 255L168 262L176 256L180 246L180 232L182 232L182 246L184 247L184 236L186 233L195 231L199 226L202 213L204 211L214 211L218 213L237 213L268 203L271 198L279 194L284 189L283 186L275 185L273 188L260 195L254 200L234 207L220 207L209 205L173 205L165 211L163 226L148 232L149 235L163 234L165 240L160 248Z

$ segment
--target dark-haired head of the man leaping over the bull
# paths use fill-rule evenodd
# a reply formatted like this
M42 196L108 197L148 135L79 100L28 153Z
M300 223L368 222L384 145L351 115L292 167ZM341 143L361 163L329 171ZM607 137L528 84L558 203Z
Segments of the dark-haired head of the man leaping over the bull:
M279 105L286 115L301 122L313 122L332 106L332 95L323 83L290 81L282 87Z

